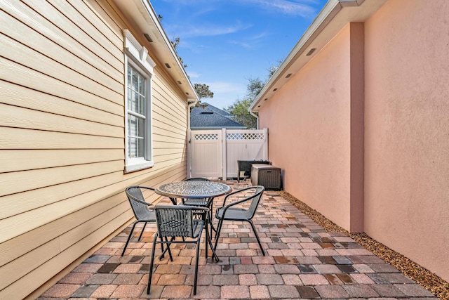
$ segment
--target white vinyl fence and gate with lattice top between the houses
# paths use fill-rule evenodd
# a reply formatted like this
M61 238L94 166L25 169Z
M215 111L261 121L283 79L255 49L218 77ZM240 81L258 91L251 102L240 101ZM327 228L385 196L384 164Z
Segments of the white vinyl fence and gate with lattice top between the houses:
M268 130L192 130L187 136L187 176L237 177L237 160L268 160Z

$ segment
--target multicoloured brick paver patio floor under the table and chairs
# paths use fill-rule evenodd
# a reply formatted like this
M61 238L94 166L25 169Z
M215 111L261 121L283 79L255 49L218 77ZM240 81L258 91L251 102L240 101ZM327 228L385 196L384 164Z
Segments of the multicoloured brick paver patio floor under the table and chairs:
M234 189L248 182L227 181ZM223 197L215 199L215 206ZM169 200L166 200L169 203ZM165 200L164 200L165 202ZM147 295L154 224L133 237L122 257L130 227L98 249L44 292L44 299L437 299L342 233L329 233L283 199L265 191L255 226L262 256L249 224L224 223L215 263L201 254L196 295L192 293L194 250L173 245L155 259ZM201 242L204 252L205 244ZM160 252L160 249L156 249ZM210 257L210 256L209 256Z

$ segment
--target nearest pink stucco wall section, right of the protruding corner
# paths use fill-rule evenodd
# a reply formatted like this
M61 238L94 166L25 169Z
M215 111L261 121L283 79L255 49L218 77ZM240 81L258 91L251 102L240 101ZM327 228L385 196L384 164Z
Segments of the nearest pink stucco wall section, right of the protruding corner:
M365 231L449 280L449 1L365 24Z

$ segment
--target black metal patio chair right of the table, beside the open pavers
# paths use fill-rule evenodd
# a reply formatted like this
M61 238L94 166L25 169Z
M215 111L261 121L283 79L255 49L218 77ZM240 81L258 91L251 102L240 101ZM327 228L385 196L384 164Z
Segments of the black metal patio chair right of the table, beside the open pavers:
M254 192L248 195L248 192L250 192L251 190L254 190ZM262 251L262 254L265 255L262 244L260 243L259 235L257 235L257 230L255 230L255 226L252 221L264 190L265 188L262 185L255 185L249 188L237 190L225 197L225 201L223 201L223 207L218 207L217 211L215 211L215 218L218 219L218 227L217 234L215 235L214 249L217 249L217 243L220 237L220 231L222 230L223 221L245 221L250 223L251 228L253 228L253 232L257 242L259 243L260 250ZM237 200L235 202L232 202L231 204L226 205L226 201L229 199L229 197L239 197L239 194L244 196L242 200ZM248 209L241 207L242 204L246 204L246 202L250 202Z

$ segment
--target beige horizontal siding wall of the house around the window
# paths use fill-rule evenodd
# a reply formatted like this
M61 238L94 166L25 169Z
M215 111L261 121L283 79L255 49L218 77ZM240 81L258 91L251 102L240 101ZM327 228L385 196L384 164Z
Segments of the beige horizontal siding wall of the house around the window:
M155 165L125 174L122 30L142 33L107 1L0 18L0 299L22 299L133 219L127 186L185 178L187 99L153 57Z

